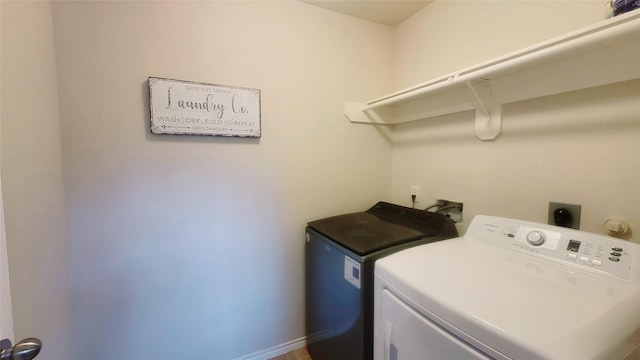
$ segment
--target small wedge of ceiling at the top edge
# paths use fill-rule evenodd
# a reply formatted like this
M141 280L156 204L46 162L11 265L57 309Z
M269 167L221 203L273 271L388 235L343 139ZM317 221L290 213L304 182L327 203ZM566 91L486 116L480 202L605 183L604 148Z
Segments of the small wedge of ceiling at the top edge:
M384 25L396 26L433 0L300 0Z

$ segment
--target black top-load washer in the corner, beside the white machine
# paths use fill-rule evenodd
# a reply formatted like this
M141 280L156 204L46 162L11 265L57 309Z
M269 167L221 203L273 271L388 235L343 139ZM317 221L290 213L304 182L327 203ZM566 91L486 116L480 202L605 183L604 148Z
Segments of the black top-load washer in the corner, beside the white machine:
M373 357L373 271L381 257L455 238L448 217L379 202L369 210L309 222L307 349L314 360Z

